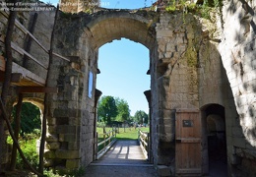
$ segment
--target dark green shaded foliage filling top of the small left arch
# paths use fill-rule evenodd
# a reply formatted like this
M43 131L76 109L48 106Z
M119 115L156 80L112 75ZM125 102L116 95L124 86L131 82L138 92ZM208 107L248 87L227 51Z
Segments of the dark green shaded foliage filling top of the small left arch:
M16 115L16 106L12 111L12 116ZM15 127L15 124L12 124ZM21 113L21 135L30 134L34 129L40 129L40 110L30 102L23 102Z

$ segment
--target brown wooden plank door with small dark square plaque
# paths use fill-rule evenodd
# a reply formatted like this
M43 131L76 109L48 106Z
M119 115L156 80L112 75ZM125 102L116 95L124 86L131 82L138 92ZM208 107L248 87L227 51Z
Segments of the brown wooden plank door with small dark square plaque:
M201 175L201 118L198 109L176 111L176 153L177 176Z

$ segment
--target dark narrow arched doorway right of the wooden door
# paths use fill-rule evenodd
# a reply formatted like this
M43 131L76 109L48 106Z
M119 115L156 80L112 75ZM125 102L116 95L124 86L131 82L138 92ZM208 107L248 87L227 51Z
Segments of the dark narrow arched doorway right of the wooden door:
M224 106L208 104L202 113L203 173L227 176Z

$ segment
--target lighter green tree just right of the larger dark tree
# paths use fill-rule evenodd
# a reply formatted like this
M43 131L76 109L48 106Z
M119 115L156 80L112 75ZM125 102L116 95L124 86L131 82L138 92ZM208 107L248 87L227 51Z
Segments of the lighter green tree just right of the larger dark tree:
M115 98L115 103L117 106L117 116L115 120L119 122L127 121L130 117L128 102L124 99L120 99L119 97L117 97Z

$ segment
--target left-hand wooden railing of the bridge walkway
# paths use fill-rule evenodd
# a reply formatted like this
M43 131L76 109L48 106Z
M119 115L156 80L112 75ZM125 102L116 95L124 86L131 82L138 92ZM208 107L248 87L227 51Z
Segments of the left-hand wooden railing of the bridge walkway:
M116 138L116 128L112 128L112 130L104 133L104 134L97 134L96 133L96 159L100 158L108 148L114 144Z

